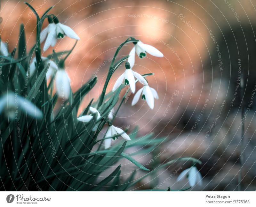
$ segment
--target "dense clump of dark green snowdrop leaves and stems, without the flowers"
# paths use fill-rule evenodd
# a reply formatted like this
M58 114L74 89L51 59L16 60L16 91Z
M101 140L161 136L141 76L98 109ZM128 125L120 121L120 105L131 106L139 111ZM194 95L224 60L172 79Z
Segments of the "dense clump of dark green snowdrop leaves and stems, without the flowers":
M107 116L117 105L116 115L128 94L127 91L118 103L124 84L115 92L106 94L108 82L114 71L129 57L125 56L118 60L119 50L124 44L137 40L128 38L117 48L102 94L98 100L92 99L81 114L88 114L92 106L100 110L101 119L97 120L95 114L92 120L85 124L77 120L78 108L81 100L96 85L97 77L90 78L80 89L71 93L61 107L56 105L58 94L53 94L54 78L47 84L45 77L49 64L45 64L42 60L40 46L41 27L46 18L53 16L48 14L52 7L40 18L35 9L30 4L26 4L35 13L37 19L36 43L30 50L26 48L25 30L21 25L18 49L15 48L8 56L0 56L3 60L0 61L2 71L0 93L1 97L6 93L14 93L15 98L23 97L24 100L36 106L42 116L28 115L28 108L21 110L19 105L17 108L16 105L11 108L9 102L9 105L7 104L2 110L0 114L0 190L37 190L37 186L40 186L44 191L96 191L106 190L106 187L108 190L123 191L134 188L145 177L175 162L191 161L193 164L200 162L194 158L180 158L161 164L149 171L133 159L132 155L148 154L166 138L152 138L153 134L137 137L138 128L130 132L129 145L126 145L127 141L119 141L113 148L102 149L102 141L105 137L99 140L99 133L106 125ZM48 58L57 64L63 64L62 60L65 60L73 49L74 47L69 51L53 51ZM36 72L30 76L29 63L33 54L38 64L36 64ZM152 74L145 74L143 77L150 75ZM0 105L1 108L4 107L2 102ZM55 113L53 109L56 109ZM15 112L14 119L10 118L10 110ZM97 123L96 130L94 130L95 123ZM147 147L143 148L144 146ZM139 147L141 150L126 154L125 150L131 147ZM134 172L122 181L121 165L116 166L120 159L128 159L134 164ZM99 181L99 176L113 166L113 171ZM134 180L136 168L145 171L145 175ZM170 188L163 190L172 191Z

